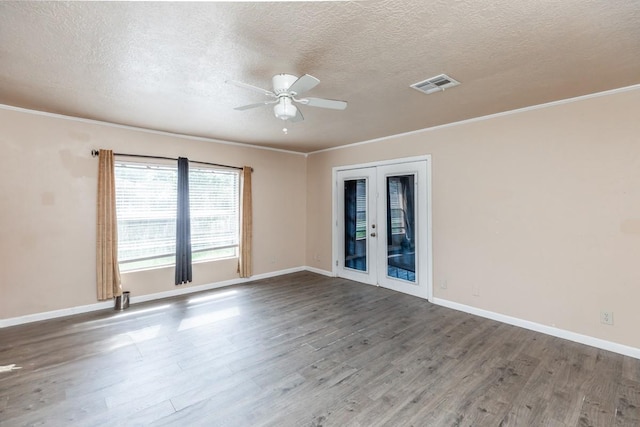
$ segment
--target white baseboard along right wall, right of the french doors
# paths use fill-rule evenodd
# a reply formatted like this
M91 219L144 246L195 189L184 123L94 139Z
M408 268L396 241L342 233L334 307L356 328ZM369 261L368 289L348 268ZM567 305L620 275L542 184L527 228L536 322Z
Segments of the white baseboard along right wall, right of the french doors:
M567 331L565 329L556 328L553 326L543 325L541 323L531 322L528 320L519 319L517 317L511 317L493 311L483 310L481 308L472 307L457 302L434 298L432 303L441 305L443 307L451 308L465 313L474 314L476 316L485 317L491 320L497 320L498 322L507 323L513 326L519 326L531 331L541 332L543 334L551 335L558 338L563 338L569 341L574 341L580 344L586 344L591 347L600 348L602 350L612 351L614 353L623 354L625 356L640 359L640 348L630 347L623 344L618 344L611 341L606 341L600 338L594 338L588 335L578 334L576 332Z

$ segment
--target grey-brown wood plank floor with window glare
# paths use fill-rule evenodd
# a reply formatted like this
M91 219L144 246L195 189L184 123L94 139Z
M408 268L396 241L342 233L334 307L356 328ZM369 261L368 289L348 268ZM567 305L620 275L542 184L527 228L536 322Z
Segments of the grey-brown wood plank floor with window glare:
M640 360L308 272L0 329L0 425L639 426Z

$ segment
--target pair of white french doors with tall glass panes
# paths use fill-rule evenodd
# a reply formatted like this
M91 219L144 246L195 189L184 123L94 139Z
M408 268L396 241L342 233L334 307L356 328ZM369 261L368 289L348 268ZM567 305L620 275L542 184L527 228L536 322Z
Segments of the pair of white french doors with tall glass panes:
M336 171L336 274L428 298L428 161Z

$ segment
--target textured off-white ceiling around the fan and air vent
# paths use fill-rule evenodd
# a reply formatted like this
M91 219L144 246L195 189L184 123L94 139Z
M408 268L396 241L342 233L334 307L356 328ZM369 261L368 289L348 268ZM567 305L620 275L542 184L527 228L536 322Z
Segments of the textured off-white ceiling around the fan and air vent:
M0 103L310 152L640 83L640 0L0 3ZM321 80L284 123L258 93ZM409 88L446 73L462 84ZM289 129L282 132L283 125Z

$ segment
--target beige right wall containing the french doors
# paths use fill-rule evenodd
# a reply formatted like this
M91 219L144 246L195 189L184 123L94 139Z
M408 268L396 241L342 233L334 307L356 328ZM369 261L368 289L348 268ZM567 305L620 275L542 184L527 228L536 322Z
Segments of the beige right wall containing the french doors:
M332 268L334 166L431 154L436 298L640 348L638 111L636 89L312 154L307 265Z

